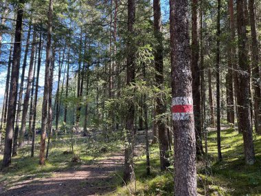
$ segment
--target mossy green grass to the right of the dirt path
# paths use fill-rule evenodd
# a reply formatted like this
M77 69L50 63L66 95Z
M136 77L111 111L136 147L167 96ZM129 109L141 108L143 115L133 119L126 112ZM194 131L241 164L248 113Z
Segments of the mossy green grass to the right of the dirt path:
M216 131L208 133L207 162L205 160L197 162L198 195L204 195L205 190L209 195L261 195L261 136L254 135L253 138L256 163L247 166L242 149L242 134L238 134L234 129L222 131L223 162L218 163ZM135 160L136 190L134 184L122 186L119 180L117 190L111 195L173 195L172 171L171 169L166 173L159 171L157 145L151 146L150 158L152 166L150 176L146 176L145 155Z

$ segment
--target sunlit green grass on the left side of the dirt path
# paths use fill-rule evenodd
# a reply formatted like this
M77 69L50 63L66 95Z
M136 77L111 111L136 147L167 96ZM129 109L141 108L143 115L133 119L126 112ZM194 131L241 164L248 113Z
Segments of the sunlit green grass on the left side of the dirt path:
M63 138L69 138L69 136L63 135ZM58 138L57 141L52 142L49 150L49 158L45 161L45 166L40 166L38 164L39 138L37 137L34 157L30 157L31 146L25 145L19 149L18 155L12 157L12 164L1 171L0 184L3 183L5 188L10 188L16 182L26 179L52 177L55 171L77 168L80 164L92 164L95 159L105 157L112 151L117 152L119 151L119 146L122 146L120 140L113 142L101 142L101 140L102 138L99 138L97 141L88 140L87 138L73 139L74 153L80 156L81 160L79 163L73 163L71 162L73 156L71 153L71 140ZM104 148L106 152L104 152ZM0 157L0 160L2 158Z

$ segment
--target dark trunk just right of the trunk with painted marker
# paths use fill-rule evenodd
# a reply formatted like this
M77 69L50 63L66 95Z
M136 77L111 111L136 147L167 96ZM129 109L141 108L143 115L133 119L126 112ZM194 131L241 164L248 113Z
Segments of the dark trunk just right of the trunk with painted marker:
M194 122L196 133L196 154L203 154L201 130L201 72L198 65L198 0L192 0L192 95L194 103Z

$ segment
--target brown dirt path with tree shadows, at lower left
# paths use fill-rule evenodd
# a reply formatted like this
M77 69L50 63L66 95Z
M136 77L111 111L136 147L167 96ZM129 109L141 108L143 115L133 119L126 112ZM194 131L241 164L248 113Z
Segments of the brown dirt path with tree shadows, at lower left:
M0 189L0 195L106 195L115 189L113 175L122 169L123 152L104 157L91 165L81 165L67 171L54 172L54 177L18 182L12 188Z

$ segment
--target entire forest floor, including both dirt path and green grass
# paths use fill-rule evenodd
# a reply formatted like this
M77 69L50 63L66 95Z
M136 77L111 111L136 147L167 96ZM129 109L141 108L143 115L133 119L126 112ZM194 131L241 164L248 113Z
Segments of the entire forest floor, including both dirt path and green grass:
M261 136L253 137L256 164L246 166L242 134L223 126L223 162L217 162L216 129L208 130L207 158L197 162L198 195L261 195ZM102 136L74 138L73 149L80 157L76 163L71 162L71 139L64 135L52 142L45 166L38 165L38 142L35 157L30 157L30 145L20 149L0 173L0 195L173 195L173 167L159 171L157 144L150 146L151 174L146 175L144 137L144 131L137 132L133 184L122 182L124 143L119 135L110 142ZM171 162L172 157L170 151Z

